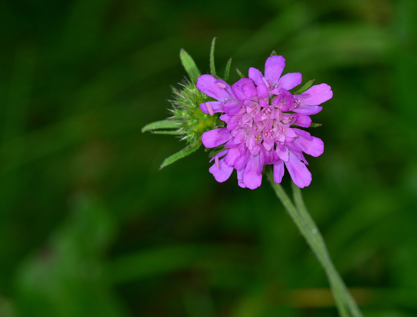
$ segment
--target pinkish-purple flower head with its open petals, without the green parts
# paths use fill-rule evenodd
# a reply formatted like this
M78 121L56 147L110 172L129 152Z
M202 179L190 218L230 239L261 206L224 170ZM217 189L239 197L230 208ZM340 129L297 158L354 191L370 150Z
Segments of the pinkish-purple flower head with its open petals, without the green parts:
M214 115L227 126L203 133L205 147L224 144L211 161L209 171L218 182L226 181L234 169L240 187L255 189L261 185L264 164L274 165L274 181L280 183L286 166L298 187L310 185L303 152L312 156L323 153L323 141L309 132L291 127L309 127L309 115L316 114L319 105L329 100L333 92L329 85L314 85L301 95L290 89L301 83L299 72L281 77L285 67L282 56L271 56L265 62L265 76L256 68L249 68L249 78L242 78L230 87L223 80L202 75L197 88L217 101L204 102L200 109ZM210 161L210 162L211 162Z

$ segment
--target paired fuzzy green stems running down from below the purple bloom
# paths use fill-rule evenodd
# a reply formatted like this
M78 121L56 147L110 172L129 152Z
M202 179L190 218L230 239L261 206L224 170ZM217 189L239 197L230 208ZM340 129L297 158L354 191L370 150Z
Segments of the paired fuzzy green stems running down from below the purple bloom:
M271 169L266 171L266 175L276 195L323 266L340 316L362 317L362 313L330 259L323 237L304 205L299 187L295 184L292 185L296 205L294 206L281 185L274 182L274 174Z

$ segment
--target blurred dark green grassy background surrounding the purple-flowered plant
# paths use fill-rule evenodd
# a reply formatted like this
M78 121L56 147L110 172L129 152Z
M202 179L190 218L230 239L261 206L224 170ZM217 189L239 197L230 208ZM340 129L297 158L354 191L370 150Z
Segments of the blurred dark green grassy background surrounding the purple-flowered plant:
M417 2L6 1L0 316L336 316L324 271L264 180L142 134L216 64L332 86L302 192L364 315L417 315ZM236 73L231 73L236 80ZM289 190L286 173L283 185Z

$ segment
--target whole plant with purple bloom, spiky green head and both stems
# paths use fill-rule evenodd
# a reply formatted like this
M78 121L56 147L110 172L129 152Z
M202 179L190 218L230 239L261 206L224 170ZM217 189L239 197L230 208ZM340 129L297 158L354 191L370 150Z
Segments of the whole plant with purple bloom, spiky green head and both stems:
M299 189L311 183L304 153L317 157L324 150L322 140L300 128L317 126L317 123L311 123L309 116L320 112L320 105L333 97L330 86L313 86L314 80L310 80L291 93L289 90L301 84L301 74L294 72L281 76L285 59L277 56L275 51L265 62L264 75L251 67L249 78L246 78L236 69L241 79L230 86L227 81L231 58L222 79L214 65L215 41L216 38L211 42L210 50L211 75L201 75L191 56L181 50L181 62L189 80L180 84L180 89L173 90L172 115L142 129L143 132L176 135L186 142L186 147L167 157L161 168L190 155L201 143L210 152L210 162L214 160L209 171L219 182L229 179L236 170L239 186L255 189L261 185L264 165L273 165L273 168L265 169L266 178L326 271L340 315L362 317L334 268ZM212 150L208 151L208 148ZM294 181L291 187L295 205L279 184L284 165Z

